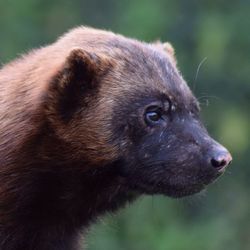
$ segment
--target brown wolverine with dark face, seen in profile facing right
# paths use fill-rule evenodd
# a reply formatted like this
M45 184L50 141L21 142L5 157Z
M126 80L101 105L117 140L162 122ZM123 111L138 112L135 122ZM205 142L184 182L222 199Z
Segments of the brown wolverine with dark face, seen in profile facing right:
M105 212L192 195L232 160L169 43L78 27L0 70L0 249L76 250Z

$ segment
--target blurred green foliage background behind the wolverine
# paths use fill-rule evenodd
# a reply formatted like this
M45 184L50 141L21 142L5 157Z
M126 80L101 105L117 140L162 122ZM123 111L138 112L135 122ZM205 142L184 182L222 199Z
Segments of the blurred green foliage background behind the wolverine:
M142 197L104 217L88 232L87 249L249 250L250 1L0 0L0 62L82 24L170 41L208 130L234 157L199 195Z

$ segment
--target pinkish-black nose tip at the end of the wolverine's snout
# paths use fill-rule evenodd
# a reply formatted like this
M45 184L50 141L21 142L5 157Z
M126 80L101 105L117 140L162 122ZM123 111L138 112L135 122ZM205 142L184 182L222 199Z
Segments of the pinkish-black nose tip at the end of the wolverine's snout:
M232 156L227 150L218 150L210 161L212 167L218 171L223 171L232 162Z

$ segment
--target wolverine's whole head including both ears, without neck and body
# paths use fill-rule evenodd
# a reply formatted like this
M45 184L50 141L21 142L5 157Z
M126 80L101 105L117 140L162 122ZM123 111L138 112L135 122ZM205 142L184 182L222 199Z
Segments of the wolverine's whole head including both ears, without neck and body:
M55 78L59 95L74 100L56 103L68 117L56 127L75 146L70 157L77 152L94 166L116 166L126 185L141 193L199 192L232 158L200 121L173 49L110 33L101 38L93 32L91 47L73 51Z

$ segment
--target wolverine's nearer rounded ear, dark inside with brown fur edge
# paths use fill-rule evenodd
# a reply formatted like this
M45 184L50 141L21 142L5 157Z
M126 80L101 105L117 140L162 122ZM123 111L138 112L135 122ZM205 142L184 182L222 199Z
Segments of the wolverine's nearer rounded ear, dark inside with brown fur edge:
M49 85L47 109L50 115L56 114L65 122L69 121L93 99L101 78L112 66L113 62L105 56L73 49Z

